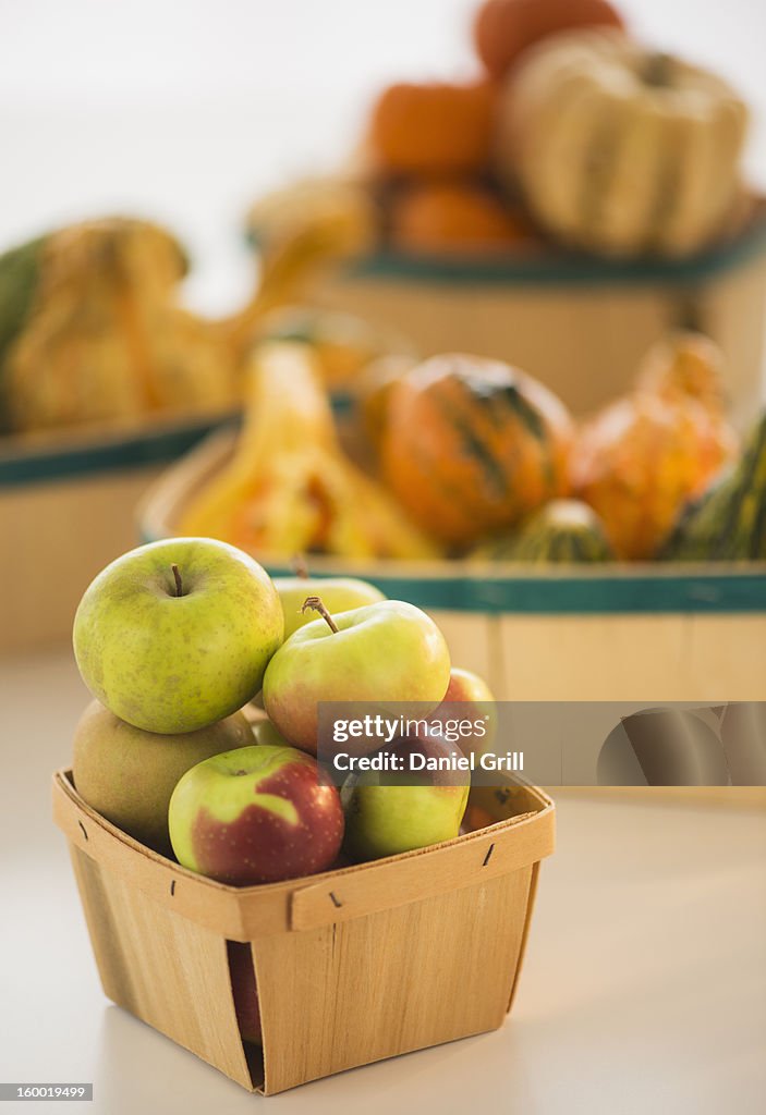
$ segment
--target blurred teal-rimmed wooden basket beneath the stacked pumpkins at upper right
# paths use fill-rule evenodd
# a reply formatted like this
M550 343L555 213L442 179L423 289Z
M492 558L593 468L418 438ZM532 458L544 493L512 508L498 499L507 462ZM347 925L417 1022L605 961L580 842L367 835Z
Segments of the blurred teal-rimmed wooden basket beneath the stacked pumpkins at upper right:
M326 273L311 298L400 330L424 356L508 360L576 414L628 390L668 329L699 329L727 357L730 413L745 428L764 398L766 207L737 240L682 260L381 253Z

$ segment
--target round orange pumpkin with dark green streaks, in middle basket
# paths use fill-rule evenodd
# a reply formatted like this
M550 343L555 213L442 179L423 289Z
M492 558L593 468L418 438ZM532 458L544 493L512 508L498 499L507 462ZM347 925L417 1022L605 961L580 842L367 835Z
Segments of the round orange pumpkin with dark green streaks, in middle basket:
M566 492L569 414L506 363L432 357L392 387L387 417L384 476L445 542L467 545Z

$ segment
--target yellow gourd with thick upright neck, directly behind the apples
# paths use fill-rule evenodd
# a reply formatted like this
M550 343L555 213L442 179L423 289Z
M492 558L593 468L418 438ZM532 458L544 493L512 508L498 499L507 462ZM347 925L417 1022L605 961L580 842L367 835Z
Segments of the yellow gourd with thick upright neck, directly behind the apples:
M256 349L249 377L234 456L187 508L182 533L287 558L435 555L391 497L343 454L307 346L274 342Z

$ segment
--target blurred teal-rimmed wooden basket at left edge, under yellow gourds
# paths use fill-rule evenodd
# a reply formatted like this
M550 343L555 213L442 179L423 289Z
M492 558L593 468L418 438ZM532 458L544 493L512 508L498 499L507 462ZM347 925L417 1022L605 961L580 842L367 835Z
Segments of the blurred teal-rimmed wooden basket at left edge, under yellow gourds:
M93 578L136 545L140 496L229 418L0 438L0 655L69 638Z

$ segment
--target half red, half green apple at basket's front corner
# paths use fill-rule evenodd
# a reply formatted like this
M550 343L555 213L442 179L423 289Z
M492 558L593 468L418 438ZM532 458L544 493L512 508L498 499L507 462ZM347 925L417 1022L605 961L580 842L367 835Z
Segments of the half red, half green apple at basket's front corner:
M329 867L343 809L304 752L255 744L187 770L173 791L168 825L182 866L248 886Z

